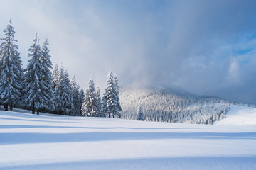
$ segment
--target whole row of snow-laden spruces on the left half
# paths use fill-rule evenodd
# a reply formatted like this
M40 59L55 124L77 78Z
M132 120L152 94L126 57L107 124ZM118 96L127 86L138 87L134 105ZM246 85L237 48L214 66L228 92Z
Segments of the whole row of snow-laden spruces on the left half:
M38 35L28 48L28 65L23 69L17 40L14 39L11 20L4 29L0 45L0 103L6 111L13 107L31 109L60 115L84 115L98 117L121 117L117 75L110 71L106 89L100 97L91 77L88 88L83 91L75 77L70 81L68 71L61 64L52 69L50 50L46 39L41 46Z

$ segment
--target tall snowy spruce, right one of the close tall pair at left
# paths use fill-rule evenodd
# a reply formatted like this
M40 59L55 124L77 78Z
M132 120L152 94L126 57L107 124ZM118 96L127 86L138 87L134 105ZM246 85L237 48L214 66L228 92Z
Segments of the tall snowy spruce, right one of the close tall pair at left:
M45 111L51 111L53 109L53 77L52 72L50 72L50 69L52 69L52 62L50 61L48 45L48 40L46 39L45 42L43 42L43 47L41 49L41 76L39 77L43 88L41 93L45 96L42 101Z

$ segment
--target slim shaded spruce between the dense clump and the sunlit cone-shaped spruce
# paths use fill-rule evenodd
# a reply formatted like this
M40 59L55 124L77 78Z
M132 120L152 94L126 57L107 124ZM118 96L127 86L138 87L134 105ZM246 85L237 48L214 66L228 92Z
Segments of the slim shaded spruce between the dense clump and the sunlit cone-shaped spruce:
M79 85L76 84L75 76L71 80L71 90L73 96L74 110L73 115L80 115L80 93L79 93Z

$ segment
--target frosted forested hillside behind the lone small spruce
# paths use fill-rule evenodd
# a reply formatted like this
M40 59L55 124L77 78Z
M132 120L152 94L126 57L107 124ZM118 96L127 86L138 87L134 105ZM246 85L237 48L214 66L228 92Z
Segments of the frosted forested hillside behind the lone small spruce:
M212 124L225 118L230 106L230 102L221 98L196 96L170 88L122 87L122 118L136 120L139 102L145 120L171 123Z

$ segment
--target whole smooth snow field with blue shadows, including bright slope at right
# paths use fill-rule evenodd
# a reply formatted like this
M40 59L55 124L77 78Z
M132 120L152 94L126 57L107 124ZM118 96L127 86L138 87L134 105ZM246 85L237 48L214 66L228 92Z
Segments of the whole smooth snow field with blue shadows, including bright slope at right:
M0 111L0 169L256 169L255 108L214 125L21 112Z

